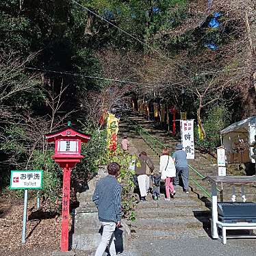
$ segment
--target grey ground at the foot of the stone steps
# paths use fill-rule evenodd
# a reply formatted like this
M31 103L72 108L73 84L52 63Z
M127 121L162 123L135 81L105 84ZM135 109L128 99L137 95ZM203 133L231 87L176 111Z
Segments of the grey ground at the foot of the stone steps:
M211 238L190 238L179 240L136 241L129 251L120 256L252 256L256 255L256 240L228 240L224 245Z

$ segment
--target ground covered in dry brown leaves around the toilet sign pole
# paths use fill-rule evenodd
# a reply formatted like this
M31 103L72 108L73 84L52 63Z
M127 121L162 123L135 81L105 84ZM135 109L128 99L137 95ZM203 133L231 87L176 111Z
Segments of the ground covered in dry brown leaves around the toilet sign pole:
M36 203L28 204L28 218L36 212ZM61 220L59 216L38 216L27 221L26 243L21 243L23 199L0 198L0 255L51 255L60 250Z

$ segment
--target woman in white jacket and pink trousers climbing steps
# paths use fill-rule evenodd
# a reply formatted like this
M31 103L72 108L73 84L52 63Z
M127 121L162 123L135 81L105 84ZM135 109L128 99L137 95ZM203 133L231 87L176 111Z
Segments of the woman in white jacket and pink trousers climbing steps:
M176 177L175 163L172 157L169 155L168 149L163 150L163 155L160 157L160 173L162 173L162 179L166 183L166 201L170 201L170 194L175 196L175 188L173 186L173 180Z

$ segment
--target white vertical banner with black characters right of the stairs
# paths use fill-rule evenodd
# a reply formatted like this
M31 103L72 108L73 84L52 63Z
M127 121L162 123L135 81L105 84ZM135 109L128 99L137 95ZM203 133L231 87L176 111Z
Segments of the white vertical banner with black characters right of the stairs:
M194 120L181 120L181 143L187 159L194 159Z

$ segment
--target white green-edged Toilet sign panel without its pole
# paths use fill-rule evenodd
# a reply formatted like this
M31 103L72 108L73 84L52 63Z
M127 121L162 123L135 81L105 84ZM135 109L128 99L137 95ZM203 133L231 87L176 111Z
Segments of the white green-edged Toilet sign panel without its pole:
M42 188L42 170L12 170L10 189L38 190Z

